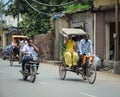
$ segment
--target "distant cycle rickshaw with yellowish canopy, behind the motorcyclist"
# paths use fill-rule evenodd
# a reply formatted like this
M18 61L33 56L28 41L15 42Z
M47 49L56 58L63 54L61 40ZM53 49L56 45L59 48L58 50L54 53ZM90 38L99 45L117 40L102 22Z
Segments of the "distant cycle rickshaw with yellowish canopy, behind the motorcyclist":
M22 40L24 40L24 39L28 39L28 37L24 36L24 35L12 35L11 40L13 41L14 39L17 39L17 40L22 39ZM18 45L18 51L19 51L19 54L17 55L13 51L13 47L11 47L10 66L12 66L13 62L15 62L15 61L18 61L20 63L22 55L20 54L20 46L19 45Z

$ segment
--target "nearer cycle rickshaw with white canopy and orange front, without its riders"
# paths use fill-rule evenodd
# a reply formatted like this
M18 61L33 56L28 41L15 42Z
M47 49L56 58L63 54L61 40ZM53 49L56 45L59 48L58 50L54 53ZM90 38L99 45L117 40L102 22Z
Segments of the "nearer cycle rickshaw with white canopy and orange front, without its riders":
M63 28L61 34L67 37L68 35L84 35L86 32L82 29ZM69 68L63 58L63 61L59 65L59 76L61 80L65 79L67 71L81 75L84 80L88 80L90 84L93 84L97 74L96 65L94 64L94 55L84 55L81 65L77 64L75 69Z

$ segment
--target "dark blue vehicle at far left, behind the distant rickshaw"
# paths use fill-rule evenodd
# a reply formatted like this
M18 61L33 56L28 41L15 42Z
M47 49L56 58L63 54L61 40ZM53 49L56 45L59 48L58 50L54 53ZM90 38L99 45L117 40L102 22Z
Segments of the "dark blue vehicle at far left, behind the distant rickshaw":
M2 59L3 59L3 60L10 58L11 50L12 50L11 44L7 45L7 46L2 50Z

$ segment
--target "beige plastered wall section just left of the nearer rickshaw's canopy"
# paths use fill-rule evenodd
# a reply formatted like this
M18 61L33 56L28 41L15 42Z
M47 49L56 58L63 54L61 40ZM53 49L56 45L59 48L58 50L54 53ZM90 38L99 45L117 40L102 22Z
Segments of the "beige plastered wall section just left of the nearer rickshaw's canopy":
M69 22L66 17L63 18L57 18L54 20L54 59L61 60L61 42L62 42L62 35L60 32L62 31L62 28L69 28Z

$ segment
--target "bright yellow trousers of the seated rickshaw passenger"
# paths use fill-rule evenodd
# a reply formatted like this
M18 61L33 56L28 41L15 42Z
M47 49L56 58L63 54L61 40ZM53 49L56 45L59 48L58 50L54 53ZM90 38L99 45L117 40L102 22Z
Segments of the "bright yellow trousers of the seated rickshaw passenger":
M77 65L78 61L78 54L76 52L70 53L65 52L64 53L65 63L71 67L72 65Z

